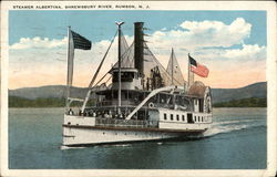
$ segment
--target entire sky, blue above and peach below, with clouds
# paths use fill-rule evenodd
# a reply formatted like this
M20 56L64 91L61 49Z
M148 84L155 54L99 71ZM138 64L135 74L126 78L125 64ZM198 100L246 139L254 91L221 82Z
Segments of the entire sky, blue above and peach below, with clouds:
M171 49L187 80L187 54L209 69L212 87L242 87L266 81L265 11L35 11L9 12L9 88L64 85L68 27L92 41L92 50L75 50L73 85L89 85L98 64L124 21L133 41L133 23L144 22L145 40L166 67ZM116 62L116 44L100 75Z

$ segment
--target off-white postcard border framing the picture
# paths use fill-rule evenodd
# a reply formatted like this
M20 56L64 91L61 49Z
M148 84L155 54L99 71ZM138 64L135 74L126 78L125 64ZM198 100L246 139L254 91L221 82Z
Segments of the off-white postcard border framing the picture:
M8 169L8 11L14 4L142 4L148 10L265 10L267 11L267 162L265 170L113 170L113 169ZM17 9L19 10L19 9ZM25 9L29 10L29 9ZM34 9L38 10L38 9ZM45 9L50 10L50 9ZM55 10L55 9L51 9ZM60 9L57 9L60 10ZM70 9L73 10L73 9ZM76 9L80 10L80 9ZM82 9L85 10L85 9ZM92 10L92 9L89 9ZM98 9L103 10L103 9ZM104 9L105 10L105 9ZM116 9L112 9L116 10ZM124 9L127 10L127 9ZM135 9L130 9L135 10ZM273 176L276 170L276 2L274 1L3 1L1 3L1 175L2 176Z

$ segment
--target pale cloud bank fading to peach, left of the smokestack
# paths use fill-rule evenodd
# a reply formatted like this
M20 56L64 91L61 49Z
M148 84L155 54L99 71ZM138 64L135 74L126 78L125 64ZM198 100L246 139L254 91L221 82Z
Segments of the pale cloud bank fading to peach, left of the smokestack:
M132 43L132 37L126 35L125 39L129 44ZM117 38L114 41L117 41ZM93 42L92 50L74 51L73 83L75 86L89 85L110 43L109 40L102 40ZM66 44L66 38L61 40L22 38L18 43L11 45L9 51L9 87L65 84ZM114 42L99 75L104 75L116 61L117 42Z

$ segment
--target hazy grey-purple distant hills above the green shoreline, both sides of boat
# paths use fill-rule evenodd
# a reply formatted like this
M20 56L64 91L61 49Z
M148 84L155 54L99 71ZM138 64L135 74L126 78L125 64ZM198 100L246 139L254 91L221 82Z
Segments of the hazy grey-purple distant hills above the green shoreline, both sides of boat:
M64 97L66 94L64 85L49 85L41 87L23 87L18 90L9 90L9 96L18 96L24 98L35 100L38 97ZM74 97L83 98L88 88L73 87L71 90ZM240 88L212 88L213 103L228 102L232 100L242 100L249 97L266 97L267 84L266 82L255 83Z

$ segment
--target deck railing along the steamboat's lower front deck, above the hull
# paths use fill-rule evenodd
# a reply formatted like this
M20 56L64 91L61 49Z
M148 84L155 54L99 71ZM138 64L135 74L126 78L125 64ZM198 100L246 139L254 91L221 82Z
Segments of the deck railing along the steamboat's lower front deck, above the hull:
M146 128L157 127L156 121L96 118L96 126Z

